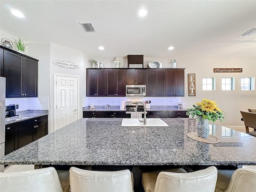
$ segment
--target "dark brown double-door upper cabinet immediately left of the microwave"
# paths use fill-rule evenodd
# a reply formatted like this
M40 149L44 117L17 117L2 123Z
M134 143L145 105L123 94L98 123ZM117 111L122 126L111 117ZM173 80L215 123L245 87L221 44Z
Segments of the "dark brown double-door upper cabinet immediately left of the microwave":
M122 69L108 69L107 96L125 96L126 71Z

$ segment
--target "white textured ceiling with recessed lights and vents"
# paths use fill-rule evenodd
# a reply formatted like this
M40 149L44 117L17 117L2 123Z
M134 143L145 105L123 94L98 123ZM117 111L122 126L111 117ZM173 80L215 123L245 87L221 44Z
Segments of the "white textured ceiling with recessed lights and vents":
M14 17L10 8L25 18ZM148 10L144 18L137 15L141 8ZM79 22L92 22L96 32L86 33ZM91 57L256 57L256 34L239 37L254 27L256 0L0 1L2 30Z

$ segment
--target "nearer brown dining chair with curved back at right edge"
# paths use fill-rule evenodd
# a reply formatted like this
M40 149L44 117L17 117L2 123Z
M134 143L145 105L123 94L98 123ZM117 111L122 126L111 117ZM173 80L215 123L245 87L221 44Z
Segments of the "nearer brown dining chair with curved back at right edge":
M240 111L244 119L244 126L246 133L256 137L256 113ZM253 131L249 132L249 127L254 128Z

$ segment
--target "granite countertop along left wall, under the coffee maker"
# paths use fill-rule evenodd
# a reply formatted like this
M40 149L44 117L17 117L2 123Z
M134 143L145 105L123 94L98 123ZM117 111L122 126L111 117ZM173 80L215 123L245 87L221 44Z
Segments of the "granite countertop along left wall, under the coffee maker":
M11 123L48 115L48 110L26 110L24 112L17 112L16 114L19 115L17 118L5 120L5 124L8 125Z

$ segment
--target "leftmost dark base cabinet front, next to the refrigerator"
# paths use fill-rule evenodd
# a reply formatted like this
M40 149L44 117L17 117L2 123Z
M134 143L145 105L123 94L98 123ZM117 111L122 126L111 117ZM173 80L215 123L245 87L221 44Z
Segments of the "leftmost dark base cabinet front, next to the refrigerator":
M18 123L12 123L5 126L4 155L16 149L18 149Z

